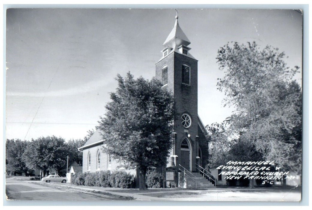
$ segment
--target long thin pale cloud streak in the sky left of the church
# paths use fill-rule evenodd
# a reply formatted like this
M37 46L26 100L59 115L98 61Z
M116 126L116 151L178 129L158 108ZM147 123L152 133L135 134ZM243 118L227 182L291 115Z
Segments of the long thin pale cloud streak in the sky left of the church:
M41 91L41 92L7 92L7 96L27 96L27 97L61 97L61 96L73 96L82 93L89 93L95 91L98 88L107 86L107 81L104 79L97 81L90 81L80 86L63 89L63 90L52 90L52 91Z

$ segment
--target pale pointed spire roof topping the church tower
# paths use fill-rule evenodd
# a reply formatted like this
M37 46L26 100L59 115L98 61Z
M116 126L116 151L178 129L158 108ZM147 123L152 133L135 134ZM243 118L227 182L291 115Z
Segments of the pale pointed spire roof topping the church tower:
M163 42L163 46L175 47L182 44L188 46L190 43L190 40L188 40L188 37L186 37L185 33L180 28L178 23L178 16L176 16L176 21L174 23L173 29L169 33L166 41Z

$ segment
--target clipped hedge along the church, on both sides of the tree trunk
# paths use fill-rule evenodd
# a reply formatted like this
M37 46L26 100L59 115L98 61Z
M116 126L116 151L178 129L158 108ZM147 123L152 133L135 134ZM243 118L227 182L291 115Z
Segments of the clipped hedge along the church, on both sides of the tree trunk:
M163 183L163 176L155 170L146 173L146 185L148 188L159 188ZM71 184L95 186L134 188L135 177L124 171L98 171L95 173L76 173L71 177Z

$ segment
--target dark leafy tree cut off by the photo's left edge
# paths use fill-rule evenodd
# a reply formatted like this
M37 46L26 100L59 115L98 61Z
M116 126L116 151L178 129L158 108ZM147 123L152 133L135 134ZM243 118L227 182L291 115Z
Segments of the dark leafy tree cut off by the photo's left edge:
M5 144L5 157L6 157L6 171L11 174L22 174L27 176L27 170L24 161L22 160L22 154L27 147L27 141L21 141L20 139L7 139Z

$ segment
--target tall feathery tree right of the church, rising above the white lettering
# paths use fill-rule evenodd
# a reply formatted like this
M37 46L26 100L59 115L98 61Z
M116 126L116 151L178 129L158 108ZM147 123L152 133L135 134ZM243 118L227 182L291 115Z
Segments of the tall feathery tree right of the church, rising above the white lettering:
M284 53L255 42L227 43L218 50L217 63L224 78L217 83L225 103L236 111L230 117L241 141L249 141L267 160L284 170L301 170L302 94L292 81ZM252 146L252 147L253 147Z

